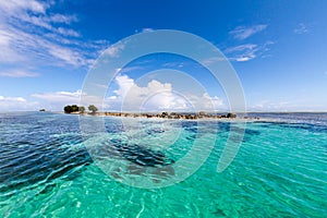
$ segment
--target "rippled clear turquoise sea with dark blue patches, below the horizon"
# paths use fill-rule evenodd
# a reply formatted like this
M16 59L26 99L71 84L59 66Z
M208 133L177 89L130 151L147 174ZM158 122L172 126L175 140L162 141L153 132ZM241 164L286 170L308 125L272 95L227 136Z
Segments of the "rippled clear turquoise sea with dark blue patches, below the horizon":
M198 134L195 121L144 119L142 129L126 129L123 123L133 119L122 122L106 117L107 134L82 136L77 116L2 113L0 217L326 216L327 114L253 116L268 120L246 124L237 157L225 171L217 172L229 131L238 122L201 121L205 134ZM125 138L136 146L122 146ZM214 148L184 181L161 189L138 189L121 182L129 171L135 171L130 167L135 156L144 165L155 162L147 167L150 169L159 168L157 160L162 156L170 160L162 166L173 166L193 148L196 138L203 140L203 147L196 148L199 155L209 146L205 142L214 142ZM113 146L116 153L123 154L116 154L114 159L124 165L105 173L87 146L105 154L105 158L112 154L104 146ZM137 150L143 155L137 156ZM145 173L136 169L133 177L136 180ZM153 174L157 175L153 182L173 173Z

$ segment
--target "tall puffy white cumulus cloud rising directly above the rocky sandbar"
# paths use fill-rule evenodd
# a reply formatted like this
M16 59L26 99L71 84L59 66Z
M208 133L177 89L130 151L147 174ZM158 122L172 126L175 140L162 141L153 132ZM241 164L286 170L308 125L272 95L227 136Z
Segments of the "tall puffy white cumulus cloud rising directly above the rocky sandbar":
M105 109L123 111L162 111L162 110L214 110L225 108L222 100L207 93L189 95L173 90L170 83L152 80L145 86L138 86L128 75L116 77L118 89L106 99Z

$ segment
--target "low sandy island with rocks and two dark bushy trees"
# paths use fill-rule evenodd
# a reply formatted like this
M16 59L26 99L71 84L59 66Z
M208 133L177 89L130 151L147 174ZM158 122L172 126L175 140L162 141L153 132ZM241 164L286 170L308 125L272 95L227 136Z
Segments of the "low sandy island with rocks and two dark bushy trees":
M85 111L84 106L65 106L63 111L65 113L73 114L92 114L92 116L110 116L110 117L128 117L128 118L164 118L164 119L185 119L185 120L197 120L197 119L235 119L237 113L228 112L226 114L218 114L214 112L97 112L98 108L94 105L89 105L87 107L89 112ZM250 119L249 117L244 117L243 119ZM258 117L252 118L258 120Z

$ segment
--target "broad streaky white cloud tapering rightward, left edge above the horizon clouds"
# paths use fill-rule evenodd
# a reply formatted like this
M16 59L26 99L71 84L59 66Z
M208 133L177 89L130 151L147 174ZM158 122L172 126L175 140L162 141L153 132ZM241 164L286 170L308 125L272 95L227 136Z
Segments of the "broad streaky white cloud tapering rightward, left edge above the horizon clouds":
M45 37L15 28L0 31L0 45L3 45L3 49L7 51L1 52L0 62L70 64L73 66L88 63L87 58L84 56L85 52L80 51L80 49L55 44Z

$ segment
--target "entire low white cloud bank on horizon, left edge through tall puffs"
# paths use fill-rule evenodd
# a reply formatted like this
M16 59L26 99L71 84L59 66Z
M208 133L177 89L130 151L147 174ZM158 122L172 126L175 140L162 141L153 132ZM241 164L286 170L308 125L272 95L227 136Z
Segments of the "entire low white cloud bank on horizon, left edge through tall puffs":
M76 92L50 92L31 95L37 101L22 97L0 96L0 110L47 110L61 111L65 105L80 105L84 98L85 107L96 105L104 110L119 111L199 111L226 110L222 99L207 93L187 94L173 89L172 84L152 80L141 86L128 75L118 75L114 81L117 88L105 99Z

